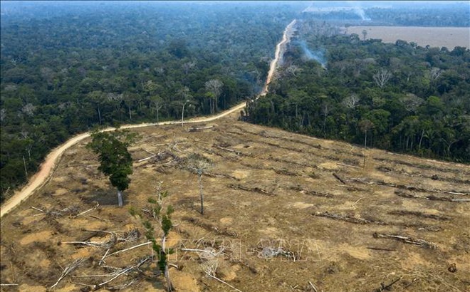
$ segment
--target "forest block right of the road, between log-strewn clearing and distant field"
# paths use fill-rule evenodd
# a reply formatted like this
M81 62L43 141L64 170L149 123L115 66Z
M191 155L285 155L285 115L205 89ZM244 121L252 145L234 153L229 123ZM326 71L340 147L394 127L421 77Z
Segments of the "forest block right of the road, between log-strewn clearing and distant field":
M362 41L311 21L298 38L306 46L291 43L245 119L356 144L367 131L369 147L470 162L469 49Z

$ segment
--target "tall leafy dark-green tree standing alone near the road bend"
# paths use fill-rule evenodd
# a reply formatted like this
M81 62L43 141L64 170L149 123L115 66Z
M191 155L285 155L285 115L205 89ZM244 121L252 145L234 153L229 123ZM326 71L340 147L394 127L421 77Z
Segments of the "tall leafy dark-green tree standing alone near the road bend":
M129 187L129 175L132 174L132 157L127 151L127 146L135 136L118 130L114 132L95 130L91 137L93 140L87 147L98 154L100 159L98 170L109 176L111 184L117 188L117 202L119 207L122 207L122 192Z

